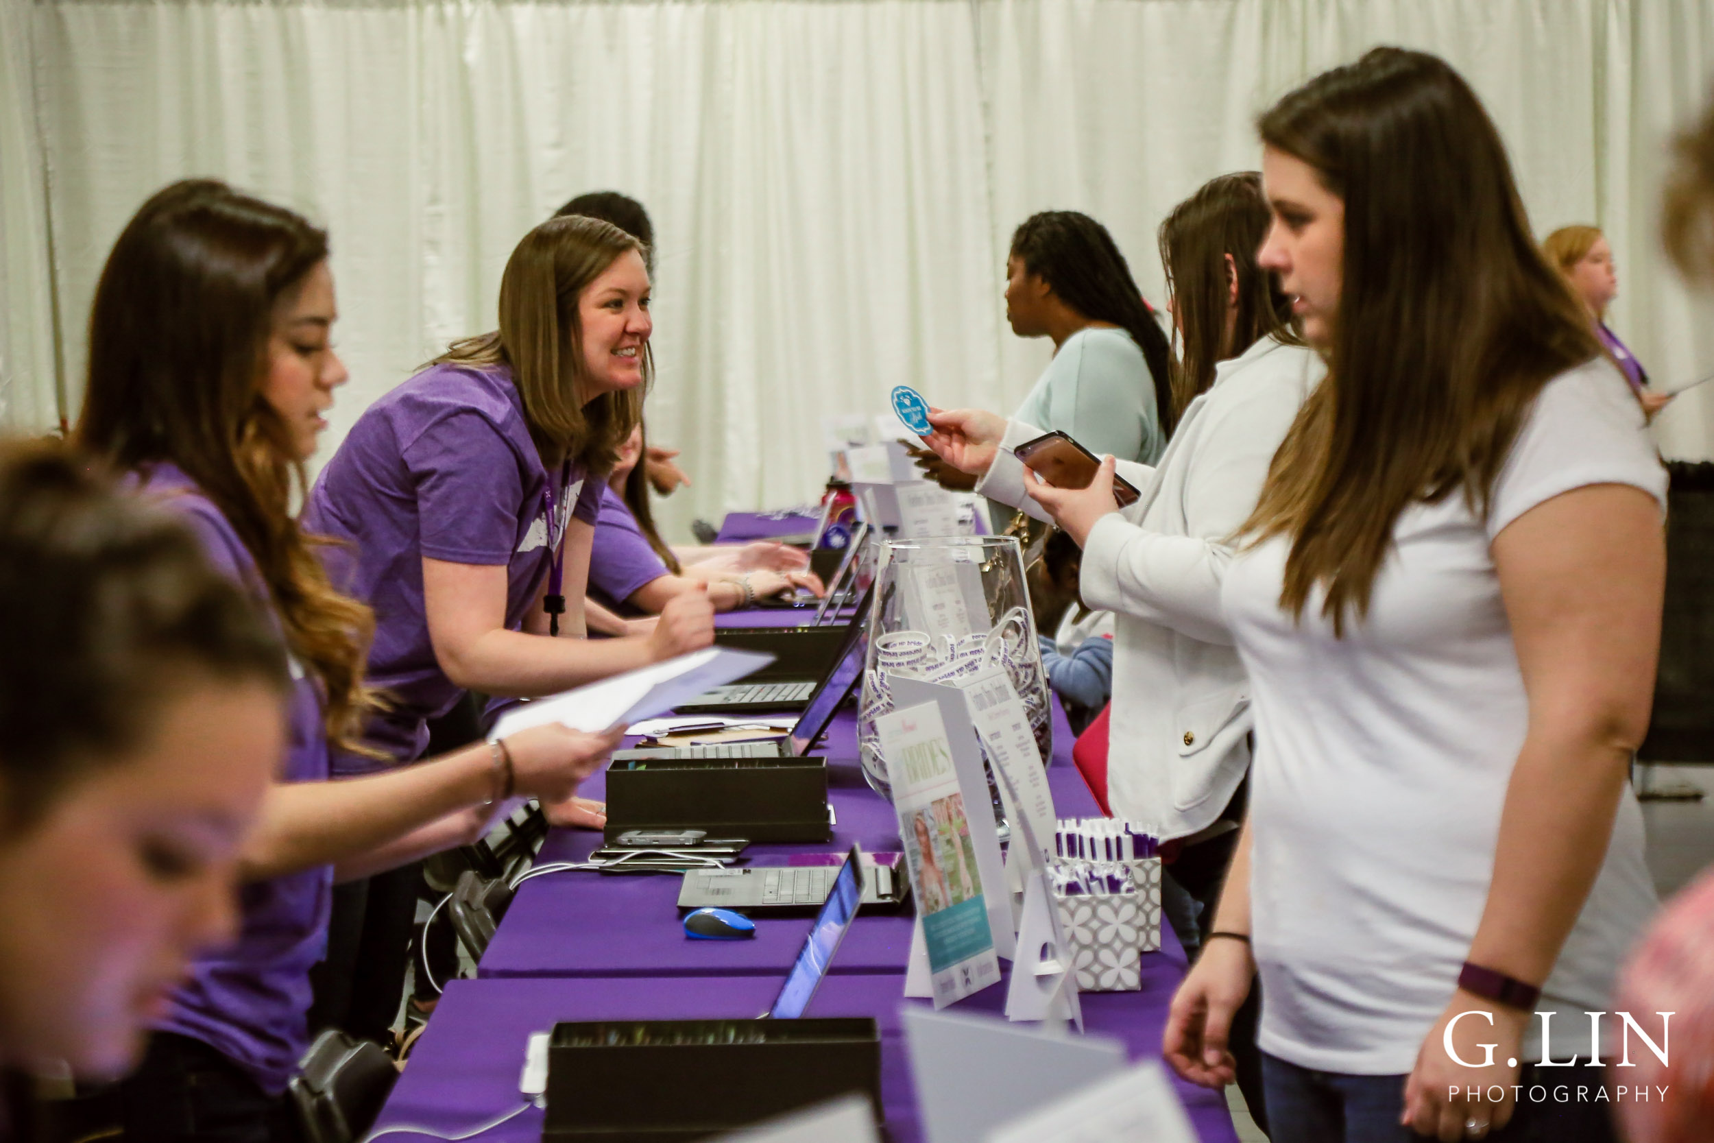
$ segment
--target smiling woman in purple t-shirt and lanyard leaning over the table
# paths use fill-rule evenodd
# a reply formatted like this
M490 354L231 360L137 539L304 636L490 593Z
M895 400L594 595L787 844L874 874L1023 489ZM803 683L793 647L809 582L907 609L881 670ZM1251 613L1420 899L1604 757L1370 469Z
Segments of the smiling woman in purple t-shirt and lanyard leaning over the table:
M369 682L391 706L365 739L393 761L415 761L427 721L466 691L552 694L713 641L701 591L668 601L648 636L581 637L602 478L650 375L648 305L636 238L591 218L542 223L506 264L499 329L454 343L370 404L315 482L305 526L343 542L327 550L329 572L375 610ZM334 757L336 773L382 764ZM603 821L593 804L567 812ZM394 874L367 901L353 889L339 903L322 1018L363 1035L391 1025L415 888ZM353 985L365 1011L346 1013L358 970L379 980Z

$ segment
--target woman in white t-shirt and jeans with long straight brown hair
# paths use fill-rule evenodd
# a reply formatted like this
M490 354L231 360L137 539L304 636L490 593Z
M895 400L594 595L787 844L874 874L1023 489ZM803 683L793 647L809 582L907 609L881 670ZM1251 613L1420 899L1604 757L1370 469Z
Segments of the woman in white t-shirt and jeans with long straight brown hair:
M1229 1081L1260 973L1275 1143L1611 1140L1625 1073L1548 1059L1654 910L1666 475L1450 67L1376 48L1258 125L1260 260L1328 377L1222 586L1258 754L1167 1059Z

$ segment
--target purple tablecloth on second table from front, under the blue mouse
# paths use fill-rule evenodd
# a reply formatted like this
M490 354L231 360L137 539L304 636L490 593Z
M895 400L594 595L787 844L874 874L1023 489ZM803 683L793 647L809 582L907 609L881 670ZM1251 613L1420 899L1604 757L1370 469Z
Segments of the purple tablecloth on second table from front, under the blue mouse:
M1049 781L1061 816L1095 816L1095 800L1075 766L1071 733L1056 706L1054 766ZM898 817L862 780L855 761L857 721L842 713L828 728L828 802L836 824L828 845L752 845L752 860L783 860L806 850L898 850ZM584 783L600 799L605 775ZM555 829L538 865L584 860L600 835ZM679 919L679 877L602 876L574 871L526 881L478 966L483 977L692 977L783 973L804 939L804 919L758 917L752 941L691 941ZM852 927L835 973L896 973L910 951L912 917L864 915Z

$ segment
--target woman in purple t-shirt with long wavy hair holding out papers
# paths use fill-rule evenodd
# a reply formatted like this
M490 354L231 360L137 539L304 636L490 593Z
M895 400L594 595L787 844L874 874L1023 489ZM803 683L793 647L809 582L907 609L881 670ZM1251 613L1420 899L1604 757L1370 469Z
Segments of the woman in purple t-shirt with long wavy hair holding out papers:
M358 744L370 612L329 584L288 511L345 384L327 236L223 183L175 183L125 226L96 286L77 440L180 512L279 631L293 694L281 781L238 874L238 941L202 956L142 1069L84 1110L142 1140L293 1138L283 1100L338 876L475 840L512 795L566 799L614 735L536 727L432 764L326 781ZM545 733L540 733L545 732Z

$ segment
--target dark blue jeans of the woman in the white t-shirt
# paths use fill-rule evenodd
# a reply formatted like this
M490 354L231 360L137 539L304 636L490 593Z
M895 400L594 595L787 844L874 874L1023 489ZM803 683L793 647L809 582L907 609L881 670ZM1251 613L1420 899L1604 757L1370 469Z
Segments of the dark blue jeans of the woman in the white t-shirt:
M1500 1131L1488 1133L1489 1143L1618 1143L1609 1116L1611 1104L1575 1100L1558 1102L1555 1088L1572 1083L1561 1069L1536 1074L1525 1066L1519 1083L1525 1088ZM1570 1073L1572 1069L1563 1069ZM1553 1076L1553 1078L1548 1078ZM1274 1143L1419 1143L1423 1136L1399 1124L1404 1114L1407 1076L1351 1076L1337 1071L1311 1071L1277 1056L1262 1054L1262 1083L1268 1102L1268 1134ZM1584 1078L1592 1090L1599 1083ZM1544 1098L1527 1098L1531 1088Z

